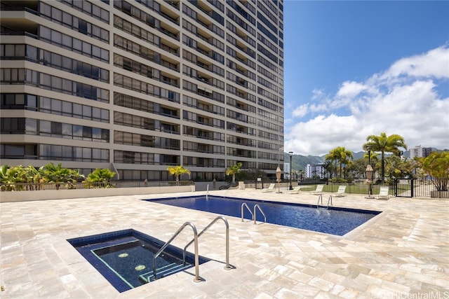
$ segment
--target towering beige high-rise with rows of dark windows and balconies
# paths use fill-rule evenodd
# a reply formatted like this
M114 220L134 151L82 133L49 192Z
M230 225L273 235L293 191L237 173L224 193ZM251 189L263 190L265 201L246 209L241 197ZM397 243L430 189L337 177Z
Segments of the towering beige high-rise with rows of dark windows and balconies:
M1 164L274 176L282 0L2 0Z

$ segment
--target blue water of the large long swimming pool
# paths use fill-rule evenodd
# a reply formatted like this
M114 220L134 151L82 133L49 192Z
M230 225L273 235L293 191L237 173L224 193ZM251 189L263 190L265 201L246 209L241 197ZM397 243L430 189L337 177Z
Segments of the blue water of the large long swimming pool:
M314 230L331 235L345 235L347 232L370 220L380 211L367 211L361 209L345 209L338 207L316 208L307 204L293 204L286 202L271 202L267 200L248 200L234 197L221 197L206 195L188 197L170 197L147 200L160 204L169 204L176 207L208 211L234 217L241 217L243 202L253 211L255 204L259 204L267 222L292 228ZM264 221L260 211L256 210L257 221ZM243 216L251 219L248 209L243 209Z

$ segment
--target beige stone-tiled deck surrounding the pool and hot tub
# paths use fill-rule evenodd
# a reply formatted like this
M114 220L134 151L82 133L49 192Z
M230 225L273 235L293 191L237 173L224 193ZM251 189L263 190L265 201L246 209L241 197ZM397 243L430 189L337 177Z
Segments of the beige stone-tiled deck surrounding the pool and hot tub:
M204 194L204 193L201 193ZM316 204L309 193L217 190L210 194ZM192 193L177 193L192 195ZM336 207L382 214L343 237L227 216L199 252L213 261L119 293L66 239L134 228L164 241L192 221L201 230L215 215L145 202L166 195L92 197L0 204L1 298L449 298L449 201L334 197ZM327 195L323 195L323 201ZM192 232L183 231L183 247Z

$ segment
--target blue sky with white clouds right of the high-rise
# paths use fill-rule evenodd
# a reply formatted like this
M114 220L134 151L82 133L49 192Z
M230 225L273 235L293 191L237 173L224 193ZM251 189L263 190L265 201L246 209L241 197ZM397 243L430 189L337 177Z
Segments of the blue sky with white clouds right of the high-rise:
M449 148L449 1L284 1L284 151Z

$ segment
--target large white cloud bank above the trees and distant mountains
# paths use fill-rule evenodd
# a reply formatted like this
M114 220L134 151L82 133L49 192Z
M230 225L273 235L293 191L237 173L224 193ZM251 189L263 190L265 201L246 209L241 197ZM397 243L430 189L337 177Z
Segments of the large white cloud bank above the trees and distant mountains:
M362 151L366 137L381 132L401 135L408 147L449 148L449 97L437 92L449 90L448 78L449 48L440 47L398 60L366 81L346 81L333 97L314 91L313 104L295 109L293 116L321 115L289 127L286 151L324 155L337 146ZM340 107L346 116L336 114Z

